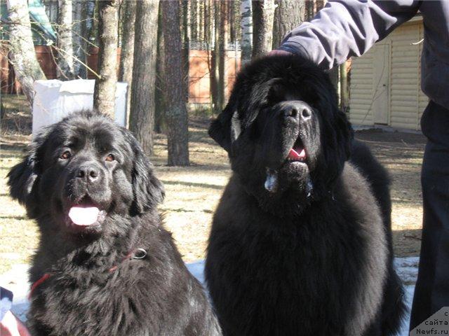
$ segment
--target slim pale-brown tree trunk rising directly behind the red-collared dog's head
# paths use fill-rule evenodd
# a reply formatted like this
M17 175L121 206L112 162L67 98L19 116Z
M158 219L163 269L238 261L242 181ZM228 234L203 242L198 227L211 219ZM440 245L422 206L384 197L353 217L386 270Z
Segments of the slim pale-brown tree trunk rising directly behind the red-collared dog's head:
M117 17L118 0L100 1L99 4L98 73L93 92L93 107L101 113L114 116L117 83Z

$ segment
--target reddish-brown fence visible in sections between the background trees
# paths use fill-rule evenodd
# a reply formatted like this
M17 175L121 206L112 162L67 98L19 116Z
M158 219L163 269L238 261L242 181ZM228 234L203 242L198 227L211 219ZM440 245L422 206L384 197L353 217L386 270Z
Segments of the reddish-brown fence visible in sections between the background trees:
M43 73L48 79L56 78L57 65L55 58L57 53L51 46L36 45L36 57ZM21 93L20 84L15 80L14 69L8 62L8 50L0 49L0 79L1 93ZM120 49L117 50L117 61L120 62ZM98 48L92 48L87 57L87 65L97 71ZM190 50L189 54L189 102L198 104L208 104L210 102L210 52L207 50ZM227 85L226 92L234 83L236 71L240 66L240 52L230 50L227 55L226 74ZM95 74L88 71L88 78L95 79Z

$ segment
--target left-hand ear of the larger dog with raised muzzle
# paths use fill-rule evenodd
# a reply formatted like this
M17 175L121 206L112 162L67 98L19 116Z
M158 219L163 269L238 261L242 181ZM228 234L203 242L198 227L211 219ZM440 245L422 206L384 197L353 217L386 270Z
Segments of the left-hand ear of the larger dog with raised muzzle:
M209 127L209 136L217 142L228 153L231 151L231 146L241 133L241 121L239 119L239 112L237 112L236 104L229 103L225 109L213 120Z

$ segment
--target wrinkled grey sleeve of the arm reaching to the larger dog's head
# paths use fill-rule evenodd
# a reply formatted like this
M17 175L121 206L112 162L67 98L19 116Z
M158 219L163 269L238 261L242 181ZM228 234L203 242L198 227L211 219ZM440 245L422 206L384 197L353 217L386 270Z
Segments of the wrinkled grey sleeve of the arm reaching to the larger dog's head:
M306 56L330 69L361 56L394 28L413 18L417 0L330 0L311 22L290 31L280 50Z

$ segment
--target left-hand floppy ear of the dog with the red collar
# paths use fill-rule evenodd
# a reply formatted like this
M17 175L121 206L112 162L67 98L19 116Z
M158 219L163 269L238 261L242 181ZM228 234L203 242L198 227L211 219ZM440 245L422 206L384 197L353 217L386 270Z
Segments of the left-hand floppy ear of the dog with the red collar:
M32 142L31 149L26 158L18 165L15 165L8 172L9 194L14 200L18 200L27 208L30 218L39 216L37 206L37 189L39 186L39 155L41 155L46 137L51 128L46 127Z

